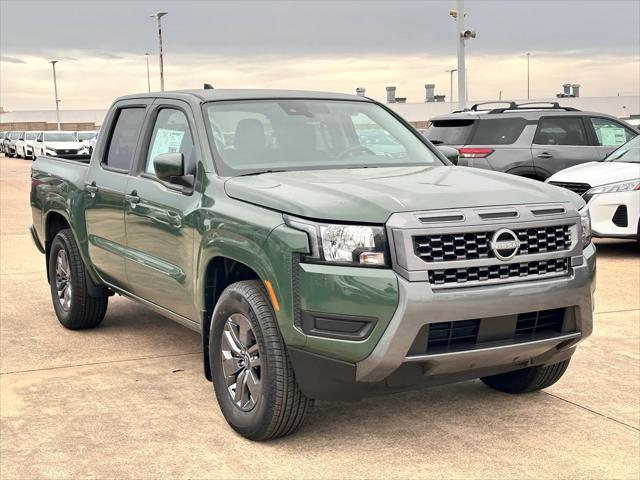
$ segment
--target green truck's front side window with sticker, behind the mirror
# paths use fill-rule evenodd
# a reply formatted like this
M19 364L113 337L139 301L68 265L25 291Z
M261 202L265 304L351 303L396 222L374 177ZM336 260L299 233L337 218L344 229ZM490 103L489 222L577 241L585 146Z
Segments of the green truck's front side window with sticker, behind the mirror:
M163 108L153 127L145 172L155 175L153 159L162 153L175 152L184 156L186 173L193 172L193 139L187 117L181 110Z

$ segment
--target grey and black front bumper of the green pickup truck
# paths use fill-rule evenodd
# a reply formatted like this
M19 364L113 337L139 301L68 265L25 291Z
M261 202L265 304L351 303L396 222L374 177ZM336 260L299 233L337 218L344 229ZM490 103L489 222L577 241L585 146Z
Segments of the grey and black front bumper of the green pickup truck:
M398 276L399 304L372 353L359 362L336 360L308 348L290 349L302 391L317 399L355 400L380 390L415 388L494 375L570 357L593 329L595 247L568 277L434 292ZM575 328L549 338L513 339L437 354L410 354L428 324L566 308Z

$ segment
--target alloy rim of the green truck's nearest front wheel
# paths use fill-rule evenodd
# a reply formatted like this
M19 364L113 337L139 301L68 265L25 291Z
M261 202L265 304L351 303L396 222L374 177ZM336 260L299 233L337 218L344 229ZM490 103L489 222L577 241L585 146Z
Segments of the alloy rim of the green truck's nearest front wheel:
M227 392L241 410L252 410L262 396L260 348L251 322L232 314L222 331L222 371Z

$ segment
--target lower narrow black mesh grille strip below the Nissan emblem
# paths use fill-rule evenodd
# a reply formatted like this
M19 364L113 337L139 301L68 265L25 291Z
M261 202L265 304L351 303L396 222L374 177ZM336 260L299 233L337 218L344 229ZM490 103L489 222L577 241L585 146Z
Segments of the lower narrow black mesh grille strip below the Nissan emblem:
M568 273L568 258L552 258L533 262L429 270L429 282L432 285L460 286L460 284L466 283L481 284L483 282L491 282L492 280L500 281L531 276L556 276L566 275Z

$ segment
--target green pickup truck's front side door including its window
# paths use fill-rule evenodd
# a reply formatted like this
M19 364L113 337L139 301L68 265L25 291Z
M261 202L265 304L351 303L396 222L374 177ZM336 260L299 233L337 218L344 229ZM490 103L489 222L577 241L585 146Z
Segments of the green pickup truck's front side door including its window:
M127 184L127 277L129 291L178 315L198 320L194 289L194 215L199 195L193 189L162 182L155 176L156 155L180 152L185 174L195 175L196 148L182 102L163 100L140 150L135 174Z

